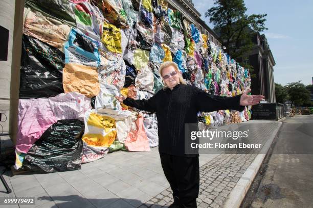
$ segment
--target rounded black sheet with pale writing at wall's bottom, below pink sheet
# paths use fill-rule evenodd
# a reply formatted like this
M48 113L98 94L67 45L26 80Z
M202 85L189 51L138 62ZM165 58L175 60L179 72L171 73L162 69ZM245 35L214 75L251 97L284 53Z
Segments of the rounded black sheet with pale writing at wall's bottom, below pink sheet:
M31 171L49 173L81 169L83 133L82 121L58 120L33 144L23 166Z

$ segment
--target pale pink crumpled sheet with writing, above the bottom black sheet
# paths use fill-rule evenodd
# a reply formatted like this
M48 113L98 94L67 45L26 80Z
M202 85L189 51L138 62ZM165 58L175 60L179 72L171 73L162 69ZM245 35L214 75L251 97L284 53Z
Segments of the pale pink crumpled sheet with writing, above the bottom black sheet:
M15 169L23 163L23 153L27 153L53 123L63 119L83 120L85 112L91 109L90 103L89 98L77 92L49 98L19 99Z

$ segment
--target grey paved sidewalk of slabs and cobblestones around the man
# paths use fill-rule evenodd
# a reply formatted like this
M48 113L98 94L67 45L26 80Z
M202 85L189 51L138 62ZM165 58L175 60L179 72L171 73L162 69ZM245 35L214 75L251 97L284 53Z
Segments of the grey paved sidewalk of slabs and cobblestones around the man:
M249 121L247 123L258 123ZM276 121L250 132L265 143ZM200 154L199 207L221 207L257 154ZM78 171L23 174L5 178L12 189L0 197L35 197L32 205L1 207L167 207L171 190L163 174L158 147L149 152L113 152L103 159L82 165Z

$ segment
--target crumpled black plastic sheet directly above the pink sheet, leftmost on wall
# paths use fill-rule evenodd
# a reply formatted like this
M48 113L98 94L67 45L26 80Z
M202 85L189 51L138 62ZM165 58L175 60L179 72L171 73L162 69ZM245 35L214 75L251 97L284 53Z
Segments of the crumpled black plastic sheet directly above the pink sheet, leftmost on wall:
M42 41L23 35L19 98L54 97L63 93L64 54Z

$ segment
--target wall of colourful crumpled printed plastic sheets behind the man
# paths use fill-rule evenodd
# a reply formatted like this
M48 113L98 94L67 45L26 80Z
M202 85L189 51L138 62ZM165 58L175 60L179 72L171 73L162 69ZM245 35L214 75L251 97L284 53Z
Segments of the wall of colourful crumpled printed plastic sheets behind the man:
M166 0L26 0L15 168L75 170L111 151L158 146L155 115L115 95L153 96L165 61L210 94L251 85L249 70ZM209 127L250 118L248 108L198 113Z

